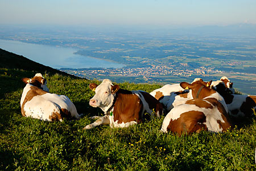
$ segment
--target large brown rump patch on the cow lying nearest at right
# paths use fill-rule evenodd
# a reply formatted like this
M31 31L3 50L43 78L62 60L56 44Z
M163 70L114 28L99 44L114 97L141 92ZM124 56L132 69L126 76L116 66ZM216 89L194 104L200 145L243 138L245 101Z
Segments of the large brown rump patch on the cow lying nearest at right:
M201 130L207 130L207 126L204 124L206 117L203 112L189 111L182 113L179 118L174 121L171 119L167 131L177 132L181 135L184 133L200 132Z

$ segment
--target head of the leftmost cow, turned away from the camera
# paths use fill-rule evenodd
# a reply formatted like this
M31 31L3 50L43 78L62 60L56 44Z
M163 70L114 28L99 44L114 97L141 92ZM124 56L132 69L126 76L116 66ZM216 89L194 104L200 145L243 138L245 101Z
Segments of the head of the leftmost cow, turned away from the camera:
M43 75L41 73L35 74L33 78L22 78L22 81L25 84L32 84L35 87L41 88L44 91L49 92L49 89L47 87L47 81L45 78L43 78Z

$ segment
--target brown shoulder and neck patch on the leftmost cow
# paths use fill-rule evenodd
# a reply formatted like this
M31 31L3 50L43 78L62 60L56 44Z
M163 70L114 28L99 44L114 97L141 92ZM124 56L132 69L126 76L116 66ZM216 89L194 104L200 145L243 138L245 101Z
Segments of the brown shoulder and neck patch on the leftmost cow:
M40 89L38 87L30 87L30 91L27 92L27 95L23 101L22 104L22 108L21 108L21 112L22 112L22 116L26 116L26 112L24 110L24 105L26 104L27 101L30 101L33 97L35 96L42 96L44 94L46 94L46 91L43 91L43 89Z

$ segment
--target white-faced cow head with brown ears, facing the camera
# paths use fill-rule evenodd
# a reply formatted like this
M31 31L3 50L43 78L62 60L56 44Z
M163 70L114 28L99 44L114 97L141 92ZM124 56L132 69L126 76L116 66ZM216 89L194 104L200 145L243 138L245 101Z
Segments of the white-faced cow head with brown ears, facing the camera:
M95 95L89 101L89 105L94 108L101 108L107 112L114 101L114 94L118 91L119 86L113 85L109 79L104 79L100 85L90 83L89 88L95 91Z

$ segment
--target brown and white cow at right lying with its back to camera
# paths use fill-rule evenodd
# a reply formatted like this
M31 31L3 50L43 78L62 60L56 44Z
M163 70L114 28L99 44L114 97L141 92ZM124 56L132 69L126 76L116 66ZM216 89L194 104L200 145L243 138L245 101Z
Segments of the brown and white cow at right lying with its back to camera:
M161 131L213 132L226 131L232 123L228 116L228 108L219 93L200 82L180 83L184 89L189 88L189 95L193 99L175 106L164 118Z

